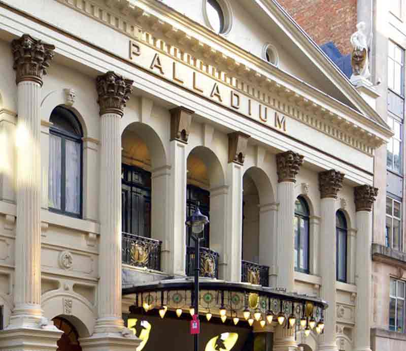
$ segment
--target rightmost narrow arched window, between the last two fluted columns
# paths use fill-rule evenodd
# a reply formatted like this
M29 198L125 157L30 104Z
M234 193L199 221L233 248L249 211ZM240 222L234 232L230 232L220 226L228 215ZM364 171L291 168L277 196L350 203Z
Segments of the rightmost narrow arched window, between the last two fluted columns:
M336 225L336 279L347 282L347 219L342 211L335 215Z

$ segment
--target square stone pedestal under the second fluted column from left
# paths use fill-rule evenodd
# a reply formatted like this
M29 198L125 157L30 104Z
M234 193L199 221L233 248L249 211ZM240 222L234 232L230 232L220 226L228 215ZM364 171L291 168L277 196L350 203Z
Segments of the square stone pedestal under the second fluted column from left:
M98 333L79 339L83 351L134 351L141 343L132 331L129 333Z

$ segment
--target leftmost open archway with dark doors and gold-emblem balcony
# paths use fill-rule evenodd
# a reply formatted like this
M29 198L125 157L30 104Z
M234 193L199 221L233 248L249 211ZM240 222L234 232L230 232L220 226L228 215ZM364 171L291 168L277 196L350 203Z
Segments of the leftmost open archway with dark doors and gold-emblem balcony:
M121 210L123 263L161 270L160 247L164 213L157 196L165 196L165 182L154 181L155 169L166 164L158 135L143 123L123 131L121 153Z

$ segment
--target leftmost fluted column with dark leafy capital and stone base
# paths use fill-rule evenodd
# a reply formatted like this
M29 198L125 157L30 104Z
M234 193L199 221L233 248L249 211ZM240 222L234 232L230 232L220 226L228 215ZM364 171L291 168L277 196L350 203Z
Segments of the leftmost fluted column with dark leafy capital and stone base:
M41 87L53 45L23 35L13 40L16 70L17 220L14 309L0 334L2 349L54 349L61 332L41 310Z

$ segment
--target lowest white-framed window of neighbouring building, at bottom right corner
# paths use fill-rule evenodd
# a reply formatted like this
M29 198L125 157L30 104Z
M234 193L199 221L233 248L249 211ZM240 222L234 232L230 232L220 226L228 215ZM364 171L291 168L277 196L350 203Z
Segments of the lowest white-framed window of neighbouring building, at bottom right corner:
M404 333L405 282L390 278L389 330Z

